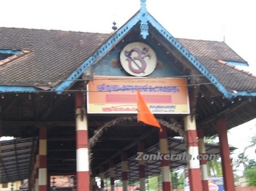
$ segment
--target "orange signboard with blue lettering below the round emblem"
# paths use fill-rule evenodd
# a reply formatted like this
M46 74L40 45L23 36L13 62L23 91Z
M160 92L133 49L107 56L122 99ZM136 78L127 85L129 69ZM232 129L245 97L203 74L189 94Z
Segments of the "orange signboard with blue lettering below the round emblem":
M154 114L189 114L184 78L94 77L87 90L89 114L137 114L137 90Z

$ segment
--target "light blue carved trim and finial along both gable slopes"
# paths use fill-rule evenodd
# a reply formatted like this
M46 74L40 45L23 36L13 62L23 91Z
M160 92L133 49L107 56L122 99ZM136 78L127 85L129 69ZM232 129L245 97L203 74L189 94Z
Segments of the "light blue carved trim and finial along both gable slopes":
M87 69L89 69L90 66L92 66L99 58L101 58L103 55L105 55L110 49L114 47L115 44L117 44L129 31L130 29L135 26L136 23L140 21L140 34L143 36L143 39L146 39L146 36L148 36L148 22L151 23L154 28L159 31L162 36L167 39L167 42L170 42L176 49L181 52L182 55L184 55L187 60L192 63L193 66L195 66L198 71L201 72L217 89L225 95L226 98L234 98L239 95L247 95L247 96L256 96L256 93L231 93L228 91L220 82L219 80L212 75L205 66L203 66L202 63L197 61L194 55L190 54L190 52L183 47L183 45L178 42L165 28L163 28L157 20L154 19L151 15L148 14L146 11L146 4L143 4L146 2L145 0L141 0L142 8L140 9L140 12L138 12L135 17L132 17L128 23L126 23L124 26L118 29L116 31L116 34L114 34L110 39L108 39L105 44L102 44L101 47L99 47L96 52L94 52L93 55L91 55L86 61L83 62L83 64L78 67L72 74L70 74L67 79L62 82L57 87L53 88L52 91L56 91L56 93L60 94L65 89L67 89L72 83L75 82L80 75L82 75Z

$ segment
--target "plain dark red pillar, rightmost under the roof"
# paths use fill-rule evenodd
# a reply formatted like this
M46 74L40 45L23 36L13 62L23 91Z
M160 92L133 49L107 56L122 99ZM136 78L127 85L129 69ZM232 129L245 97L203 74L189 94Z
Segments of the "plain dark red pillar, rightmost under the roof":
M222 174L225 191L235 190L233 168L230 160L230 148L227 141L227 121L217 120L216 128L219 136L219 150L222 158Z

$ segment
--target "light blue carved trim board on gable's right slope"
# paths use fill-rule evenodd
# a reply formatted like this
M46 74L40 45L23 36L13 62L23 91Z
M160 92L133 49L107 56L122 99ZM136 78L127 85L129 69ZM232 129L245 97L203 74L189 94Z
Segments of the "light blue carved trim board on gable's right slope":
M195 58L194 55L192 55L180 42L178 42L178 40L176 40L167 30L165 30L165 28L163 28L158 22L157 20L154 19L154 17L152 17L151 15L148 15L148 20L151 23L152 26L154 26L154 28L157 29L157 31L159 31L160 34L162 34L162 36L165 37L165 39L167 39L168 42L170 42L170 44L173 45L173 47L176 47L176 50L178 50L178 52L181 52L182 55L184 55L185 58L187 58L187 60L192 63L193 66L195 66L195 68L200 71L213 85L215 85L215 87L217 87L217 89L223 93L223 95L225 95L226 98L233 98L233 94L230 93L229 91L226 90L226 88L218 81L218 79L216 77L214 77L213 75L211 75L210 71L208 71L206 69L205 66L203 66L202 63L200 63L199 61L197 61L197 59Z

